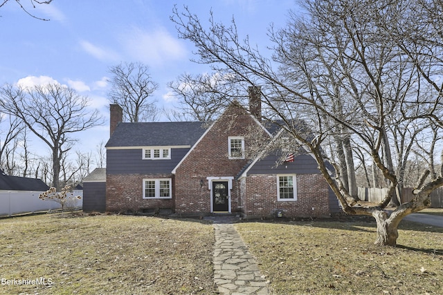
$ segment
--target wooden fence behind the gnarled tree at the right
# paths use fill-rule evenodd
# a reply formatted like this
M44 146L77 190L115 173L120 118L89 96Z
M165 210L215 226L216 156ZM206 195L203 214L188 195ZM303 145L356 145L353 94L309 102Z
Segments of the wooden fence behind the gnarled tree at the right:
M381 202L386 195L388 189L378 189L378 188L368 188L359 187L359 198L360 200L368 202ZM405 187L400 192L401 203L409 202L413 198L413 189L410 187ZM431 193L431 208L443 208L443 187L435 189Z

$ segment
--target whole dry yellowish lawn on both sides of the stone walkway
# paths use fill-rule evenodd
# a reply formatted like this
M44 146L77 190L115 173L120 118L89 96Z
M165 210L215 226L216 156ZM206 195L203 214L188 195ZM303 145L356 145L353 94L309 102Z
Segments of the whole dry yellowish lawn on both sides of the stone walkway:
M376 247L370 222L235 225L272 294L441 294L443 228L401 222ZM213 227L197 220L48 214L0 219L0 294L217 294ZM47 282L46 282L47 283Z

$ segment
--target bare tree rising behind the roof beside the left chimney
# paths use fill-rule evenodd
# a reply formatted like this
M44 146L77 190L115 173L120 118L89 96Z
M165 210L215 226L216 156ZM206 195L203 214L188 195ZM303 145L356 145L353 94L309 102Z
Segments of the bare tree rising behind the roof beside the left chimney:
M159 110L152 93L159 84L152 80L149 67L142 63L125 63L111 66L111 91L109 97L123 108L126 122L156 121Z

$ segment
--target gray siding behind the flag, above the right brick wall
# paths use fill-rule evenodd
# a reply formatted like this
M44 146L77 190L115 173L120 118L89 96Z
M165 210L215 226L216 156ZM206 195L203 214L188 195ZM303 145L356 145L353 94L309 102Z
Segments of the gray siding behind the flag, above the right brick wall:
M279 160L278 155L267 155L264 159L255 162L249 169L248 175L251 174L317 174L318 164L311 155L296 155L293 162L285 162L279 166L275 166Z

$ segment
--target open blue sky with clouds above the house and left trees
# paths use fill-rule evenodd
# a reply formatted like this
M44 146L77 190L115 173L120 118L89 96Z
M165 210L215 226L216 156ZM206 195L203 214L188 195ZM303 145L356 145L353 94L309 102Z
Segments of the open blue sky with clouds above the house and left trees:
M28 1L21 1L28 6ZM178 39L170 21L172 8L188 6L206 20L212 9L215 19L228 23L235 17L240 37L249 35L251 44L269 45L270 23L284 26L294 0L53 0L28 10L15 1L0 8L0 84L33 85L59 82L91 99L91 107L105 117L106 124L78 134L79 150L93 151L109 137L107 92L109 66L141 61L159 89L154 93L160 106L174 108L167 83L181 73L206 73L208 68L189 61L195 50ZM166 120L162 118L162 120Z

